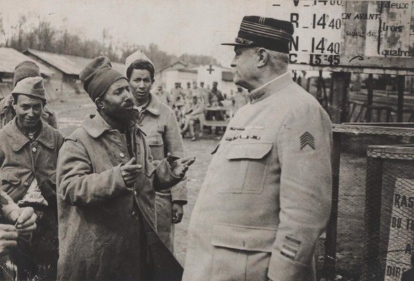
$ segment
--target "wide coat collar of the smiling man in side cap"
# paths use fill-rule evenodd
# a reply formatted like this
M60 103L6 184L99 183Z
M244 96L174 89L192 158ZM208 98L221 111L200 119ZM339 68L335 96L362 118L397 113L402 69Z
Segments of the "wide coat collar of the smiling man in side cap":
M50 126L43 124L41 120L39 120L39 122L40 133L39 136L37 136L37 138L34 140L40 142L48 148L55 148L55 134L53 132L53 129ZM23 146L30 142L30 139L28 139L28 137L26 137L23 132L17 127L17 117L14 117L12 122L9 122L6 126L4 126L3 130L7 135L8 143L10 144L10 147L13 151L21 150Z

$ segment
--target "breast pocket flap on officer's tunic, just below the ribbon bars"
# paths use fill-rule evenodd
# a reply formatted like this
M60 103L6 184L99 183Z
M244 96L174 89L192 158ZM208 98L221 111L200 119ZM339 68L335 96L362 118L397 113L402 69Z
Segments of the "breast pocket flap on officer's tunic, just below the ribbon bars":
M270 142L264 143L249 143L249 144L232 144L228 148L226 158L229 160L235 159L262 159L266 156L273 144Z

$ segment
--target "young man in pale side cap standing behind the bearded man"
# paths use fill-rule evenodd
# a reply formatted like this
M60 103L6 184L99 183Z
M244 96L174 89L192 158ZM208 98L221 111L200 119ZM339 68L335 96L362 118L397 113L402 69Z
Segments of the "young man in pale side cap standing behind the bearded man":
M144 52L138 50L126 60L126 77L135 103L140 108L137 122L146 132L152 157L161 160L171 153L184 157L184 145L172 110L150 93L154 83L154 65ZM183 206L187 204L186 180L164 191L155 193L157 233L161 240L174 251L174 224L181 222Z

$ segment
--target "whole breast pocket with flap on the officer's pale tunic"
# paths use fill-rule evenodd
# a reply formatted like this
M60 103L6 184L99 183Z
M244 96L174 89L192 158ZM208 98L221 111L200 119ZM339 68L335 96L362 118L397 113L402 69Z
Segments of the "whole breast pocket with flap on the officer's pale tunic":
M219 193L262 193L268 168L271 142L232 144L226 151L230 180Z

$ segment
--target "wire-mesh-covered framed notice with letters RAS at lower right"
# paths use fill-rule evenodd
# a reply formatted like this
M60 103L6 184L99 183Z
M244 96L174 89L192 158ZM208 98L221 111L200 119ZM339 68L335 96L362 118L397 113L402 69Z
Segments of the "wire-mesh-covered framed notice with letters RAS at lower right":
M368 146L362 280L402 280L414 249L414 147Z

